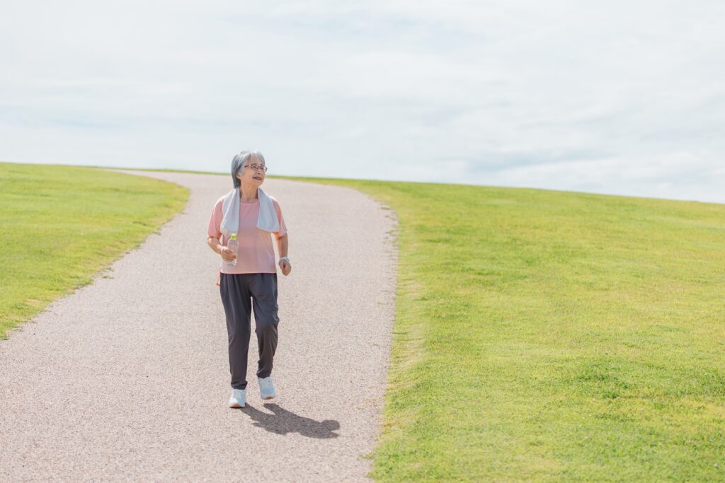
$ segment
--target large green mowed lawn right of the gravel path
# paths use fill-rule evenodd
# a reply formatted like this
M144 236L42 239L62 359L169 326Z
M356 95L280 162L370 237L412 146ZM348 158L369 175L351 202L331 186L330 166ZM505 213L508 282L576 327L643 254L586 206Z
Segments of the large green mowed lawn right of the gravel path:
M725 480L725 206L315 181L399 217L376 479Z

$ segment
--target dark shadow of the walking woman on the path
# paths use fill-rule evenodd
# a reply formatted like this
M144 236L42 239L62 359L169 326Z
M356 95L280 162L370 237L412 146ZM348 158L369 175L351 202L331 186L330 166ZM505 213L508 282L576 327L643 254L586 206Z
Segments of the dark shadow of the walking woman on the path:
M340 423L333 419L325 421L315 421L314 419L297 416L297 414L281 408L275 403L266 403L265 408L274 414L264 413L252 406L244 406L240 411L249 414L254 419L254 426L264 428L269 432L276 434L287 434L297 432L302 436L316 437L320 439L338 437L335 433L340 429Z

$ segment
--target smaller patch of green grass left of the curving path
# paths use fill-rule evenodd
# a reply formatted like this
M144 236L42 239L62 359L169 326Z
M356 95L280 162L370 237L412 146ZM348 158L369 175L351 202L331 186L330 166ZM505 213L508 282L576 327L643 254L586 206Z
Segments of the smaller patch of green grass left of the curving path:
M183 209L188 190L87 167L0 163L0 338Z

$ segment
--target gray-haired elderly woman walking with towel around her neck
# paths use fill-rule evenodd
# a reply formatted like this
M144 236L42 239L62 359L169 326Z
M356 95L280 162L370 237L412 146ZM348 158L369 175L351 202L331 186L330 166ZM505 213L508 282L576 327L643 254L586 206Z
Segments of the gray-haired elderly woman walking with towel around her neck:
M265 157L259 151L242 151L234 156L231 161L234 188L215 204L207 232L207 244L222 259L217 285L229 336L230 408L243 408L247 399L252 308L260 349L257 368L260 396L271 399L276 395L270 374L279 318L277 267L271 235L277 240L282 274L289 275L292 265L287 256L287 229L279 203L260 188L266 172ZM236 251L228 246L235 238L239 243Z

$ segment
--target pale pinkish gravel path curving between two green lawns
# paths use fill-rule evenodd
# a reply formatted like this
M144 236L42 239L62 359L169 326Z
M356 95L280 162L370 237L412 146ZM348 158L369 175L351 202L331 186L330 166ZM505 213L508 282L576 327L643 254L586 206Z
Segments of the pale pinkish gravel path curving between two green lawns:
M394 314L393 212L347 188L265 181L294 265L278 275L278 397L259 398L252 332L247 408L231 409L219 257L205 243L231 181L136 174L191 188L188 205L0 340L0 481L368 481L361 456L379 431Z

